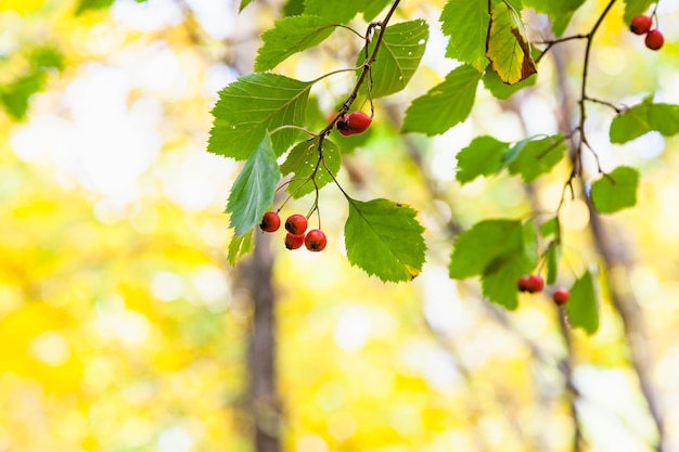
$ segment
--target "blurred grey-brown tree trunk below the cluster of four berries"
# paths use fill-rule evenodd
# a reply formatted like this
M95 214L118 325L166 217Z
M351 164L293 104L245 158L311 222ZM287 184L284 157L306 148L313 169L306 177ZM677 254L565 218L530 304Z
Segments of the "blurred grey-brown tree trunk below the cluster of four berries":
M257 452L280 451L280 399L277 390L276 292L269 235L255 231L256 246L243 262L240 279L253 314L248 336L249 413Z

